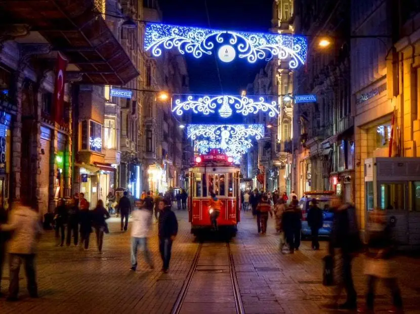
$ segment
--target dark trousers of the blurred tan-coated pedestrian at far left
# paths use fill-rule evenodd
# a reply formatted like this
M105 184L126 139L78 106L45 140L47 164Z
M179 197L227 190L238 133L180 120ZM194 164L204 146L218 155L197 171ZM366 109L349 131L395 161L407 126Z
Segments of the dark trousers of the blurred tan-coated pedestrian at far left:
M29 295L36 297L38 287L35 280L35 254L14 254L9 257L10 285L9 296L17 297L19 292L19 271L20 264L25 263L26 281Z

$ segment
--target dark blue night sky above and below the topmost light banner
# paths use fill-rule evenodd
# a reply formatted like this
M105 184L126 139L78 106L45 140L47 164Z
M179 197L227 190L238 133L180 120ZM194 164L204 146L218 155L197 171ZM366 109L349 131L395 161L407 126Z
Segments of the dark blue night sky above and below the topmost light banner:
M164 23L209 28L204 0L159 0L159 5ZM272 0L207 0L207 8L211 28L267 32L271 27ZM249 64L246 60L223 63L214 55L200 59L186 55L186 60L190 90L195 94L218 95L223 87L224 94L238 95L266 64Z

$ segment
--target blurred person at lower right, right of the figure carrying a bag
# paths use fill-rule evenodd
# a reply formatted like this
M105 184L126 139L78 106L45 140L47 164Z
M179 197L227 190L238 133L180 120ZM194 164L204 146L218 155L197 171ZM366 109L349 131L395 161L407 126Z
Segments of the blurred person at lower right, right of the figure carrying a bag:
M390 289L393 306L392 313L402 313L401 291L398 287L396 270L393 260L395 243L392 237L392 224L387 221L384 210L375 209L369 214L369 232L367 253L365 260L365 275L367 275L366 305L358 309L359 312L373 313L376 282L382 280Z

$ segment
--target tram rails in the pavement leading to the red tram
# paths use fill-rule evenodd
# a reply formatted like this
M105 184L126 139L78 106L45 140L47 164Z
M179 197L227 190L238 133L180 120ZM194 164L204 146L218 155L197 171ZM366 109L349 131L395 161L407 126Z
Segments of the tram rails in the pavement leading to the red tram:
M184 303L185 299L187 298L189 293L193 294L193 292L190 291L190 286L194 279L194 275L197 275L197 272L199 272L199 270L197 270L197 266L199 266L200 256L202 256L202 252L205 249L206 247L203 248L203 243L198 244L193 261L191 263L191 267L187 273L187 277L184 281L184 285L182 286L181 291L178 294L178 298L175 301L174 306L172 307L171 314L182 313L182 308L183 308L183 305L185 304ZM244 314L245 311L243 309L242 299L241 299L241 295L239 291L239 284L238 284L238 280L237 280L236 272L235 272L235 263L233 260L233 254L231 252L229 243L226 243L226 250L227 250L227 259L228 259L228 267L229 267L229 277L232 284L232 292L233 292L233 298L235 302L236 314ZM217 272L217 270L215 270L215 272ZM209 284L214 285L215 282L209 283ZM221 313L222 312L223 311L221 311Z

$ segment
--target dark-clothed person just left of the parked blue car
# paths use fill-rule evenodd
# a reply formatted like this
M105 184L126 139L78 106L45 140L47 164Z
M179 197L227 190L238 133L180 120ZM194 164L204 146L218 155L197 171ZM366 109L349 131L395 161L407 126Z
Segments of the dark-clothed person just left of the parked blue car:
M301 245L301 228L301 211L298 206L298 201L294 200L283 212L281 218L281 229L284 230L284 236L289 246L290 254L293 254L295 250L299 250L299 246Z

